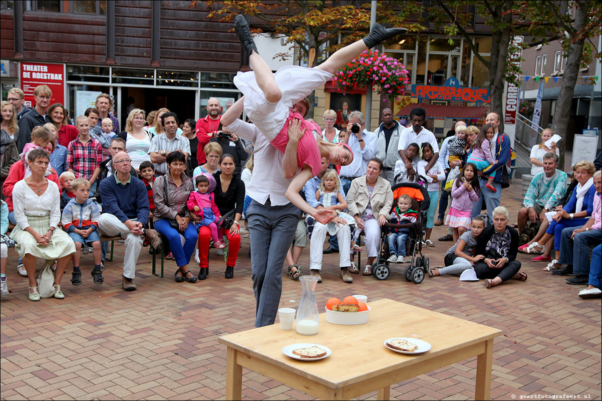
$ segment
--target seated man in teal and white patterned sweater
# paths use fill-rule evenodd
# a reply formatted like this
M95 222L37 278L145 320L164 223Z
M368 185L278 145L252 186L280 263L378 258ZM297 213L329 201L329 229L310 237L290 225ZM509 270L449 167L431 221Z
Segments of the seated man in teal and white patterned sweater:
M523 228L527 224L527 218L530 222L540 222L542 224L540 231L543 235L548 228L548 219L545 213L554 210L560 200L566 193L566 173L562 170L556 170L559 158L555 153L548 152L544 155L544 172L533 177L523 201L523 207L518 210L517 225L518 234L523 233ZM546 246L545 256L550 255L550 246ZM524 248L524 249L523 249ZM528 246L521 246L520 251L527 251Z

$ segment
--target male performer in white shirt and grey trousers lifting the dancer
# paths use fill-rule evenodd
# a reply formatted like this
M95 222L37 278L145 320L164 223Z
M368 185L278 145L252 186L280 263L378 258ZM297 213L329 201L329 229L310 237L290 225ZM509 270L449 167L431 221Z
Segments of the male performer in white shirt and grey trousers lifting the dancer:
M270 145L259 129L236 118L243 112L239 99L222 116L223 127L239 138L253 142L253 176L246 194L252 198L247 208L251 248L251 278L255 292L255 326L272 325L276 320L282 293L282 264L291 247L301 210L286 197L293 179L284 177L283 154Z

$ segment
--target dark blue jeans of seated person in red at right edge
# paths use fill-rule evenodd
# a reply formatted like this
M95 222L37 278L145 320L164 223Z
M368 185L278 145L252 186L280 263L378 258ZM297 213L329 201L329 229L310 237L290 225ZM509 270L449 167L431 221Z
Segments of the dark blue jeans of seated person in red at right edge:
M566 227L560 236L560 257L558 262L563 265L573 265L573 273L580 275L589 274L589 246L602 242L601 230L589 230L575 234L573 231L579 227Z

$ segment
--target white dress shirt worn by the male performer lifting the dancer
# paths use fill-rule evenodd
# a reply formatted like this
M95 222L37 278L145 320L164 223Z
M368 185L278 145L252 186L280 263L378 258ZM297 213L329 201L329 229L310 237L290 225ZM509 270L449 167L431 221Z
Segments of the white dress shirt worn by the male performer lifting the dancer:
M265 204L268 197L272 206L289 204L286 193L293 179L284 177L282 152L270 145L267 138L251 123L234 120L234 123L225 128L239 138L252 141L256 150L253 158L253 176L250 185L245 188L246 194L261 204ZM299 171L297 168L297 173Z

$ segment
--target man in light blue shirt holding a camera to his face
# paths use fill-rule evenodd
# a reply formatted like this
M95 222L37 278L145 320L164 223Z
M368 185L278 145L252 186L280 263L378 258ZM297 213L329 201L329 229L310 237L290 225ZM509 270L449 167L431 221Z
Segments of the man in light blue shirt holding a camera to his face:
M356 132L353 132L354 130ZM351 182L366 174L368 161L376 155L378 142L373 132L364 129L364 114L360 111L354 111L349 115L347 132L341 139L342 135L343 131L339 133L340 141L349 144L349 147L353 151L353 162L341 167L339 173L343 191L347 195Z

